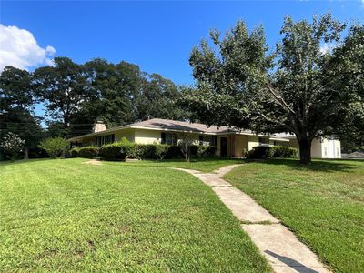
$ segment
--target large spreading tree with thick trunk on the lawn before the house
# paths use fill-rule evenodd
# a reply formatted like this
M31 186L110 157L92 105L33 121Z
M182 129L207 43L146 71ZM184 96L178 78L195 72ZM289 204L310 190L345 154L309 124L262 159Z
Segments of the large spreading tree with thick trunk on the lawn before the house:
M223 39L213 31L216 47L202 41L191 53L198 91L187 92L187 106L207 124L217 120L257 132L294 133L300 162L307 164L312 140L335 134L344 123L348 96L332 85L332 54L321 48L339 43L344 28L329 14L315 16L312 23L288 16L272 55L262 27L248 33L238 22Z

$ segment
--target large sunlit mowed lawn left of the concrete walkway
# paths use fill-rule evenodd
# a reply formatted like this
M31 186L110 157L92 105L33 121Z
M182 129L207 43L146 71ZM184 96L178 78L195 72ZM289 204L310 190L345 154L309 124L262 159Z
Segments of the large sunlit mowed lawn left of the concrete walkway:
M85 161L0 164L0 271L270 270L197 178Z

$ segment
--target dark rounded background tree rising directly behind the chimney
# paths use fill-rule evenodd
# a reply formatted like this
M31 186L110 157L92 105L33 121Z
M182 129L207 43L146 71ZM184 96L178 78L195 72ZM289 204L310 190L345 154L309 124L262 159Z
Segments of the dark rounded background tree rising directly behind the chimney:
M121 126L133 122L136 116L135 99L143 82L139 67L126 62L117 65L104 59L85 64L95 99L84 106L84 111L102 119L106 126Z

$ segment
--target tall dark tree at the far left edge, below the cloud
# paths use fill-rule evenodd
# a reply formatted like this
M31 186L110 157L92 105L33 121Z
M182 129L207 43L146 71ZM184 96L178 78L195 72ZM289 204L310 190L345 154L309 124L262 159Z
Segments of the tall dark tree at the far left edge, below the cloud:
M0 75L0 132L3 136L13 132L25 140L25 159L28 148L35 147L43 134L40 118L34 113L36 100L31 82L31 74L13 66L6 66Z

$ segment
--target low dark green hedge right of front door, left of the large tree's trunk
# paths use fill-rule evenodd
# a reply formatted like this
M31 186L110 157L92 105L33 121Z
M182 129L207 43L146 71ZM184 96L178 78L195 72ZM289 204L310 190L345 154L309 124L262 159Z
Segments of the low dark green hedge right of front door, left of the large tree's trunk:
M286 157L293 158L298 156L298 149L293 147L283 146L257 146L253 147L252 150L248 151L248 159L268 159L273 157Z

